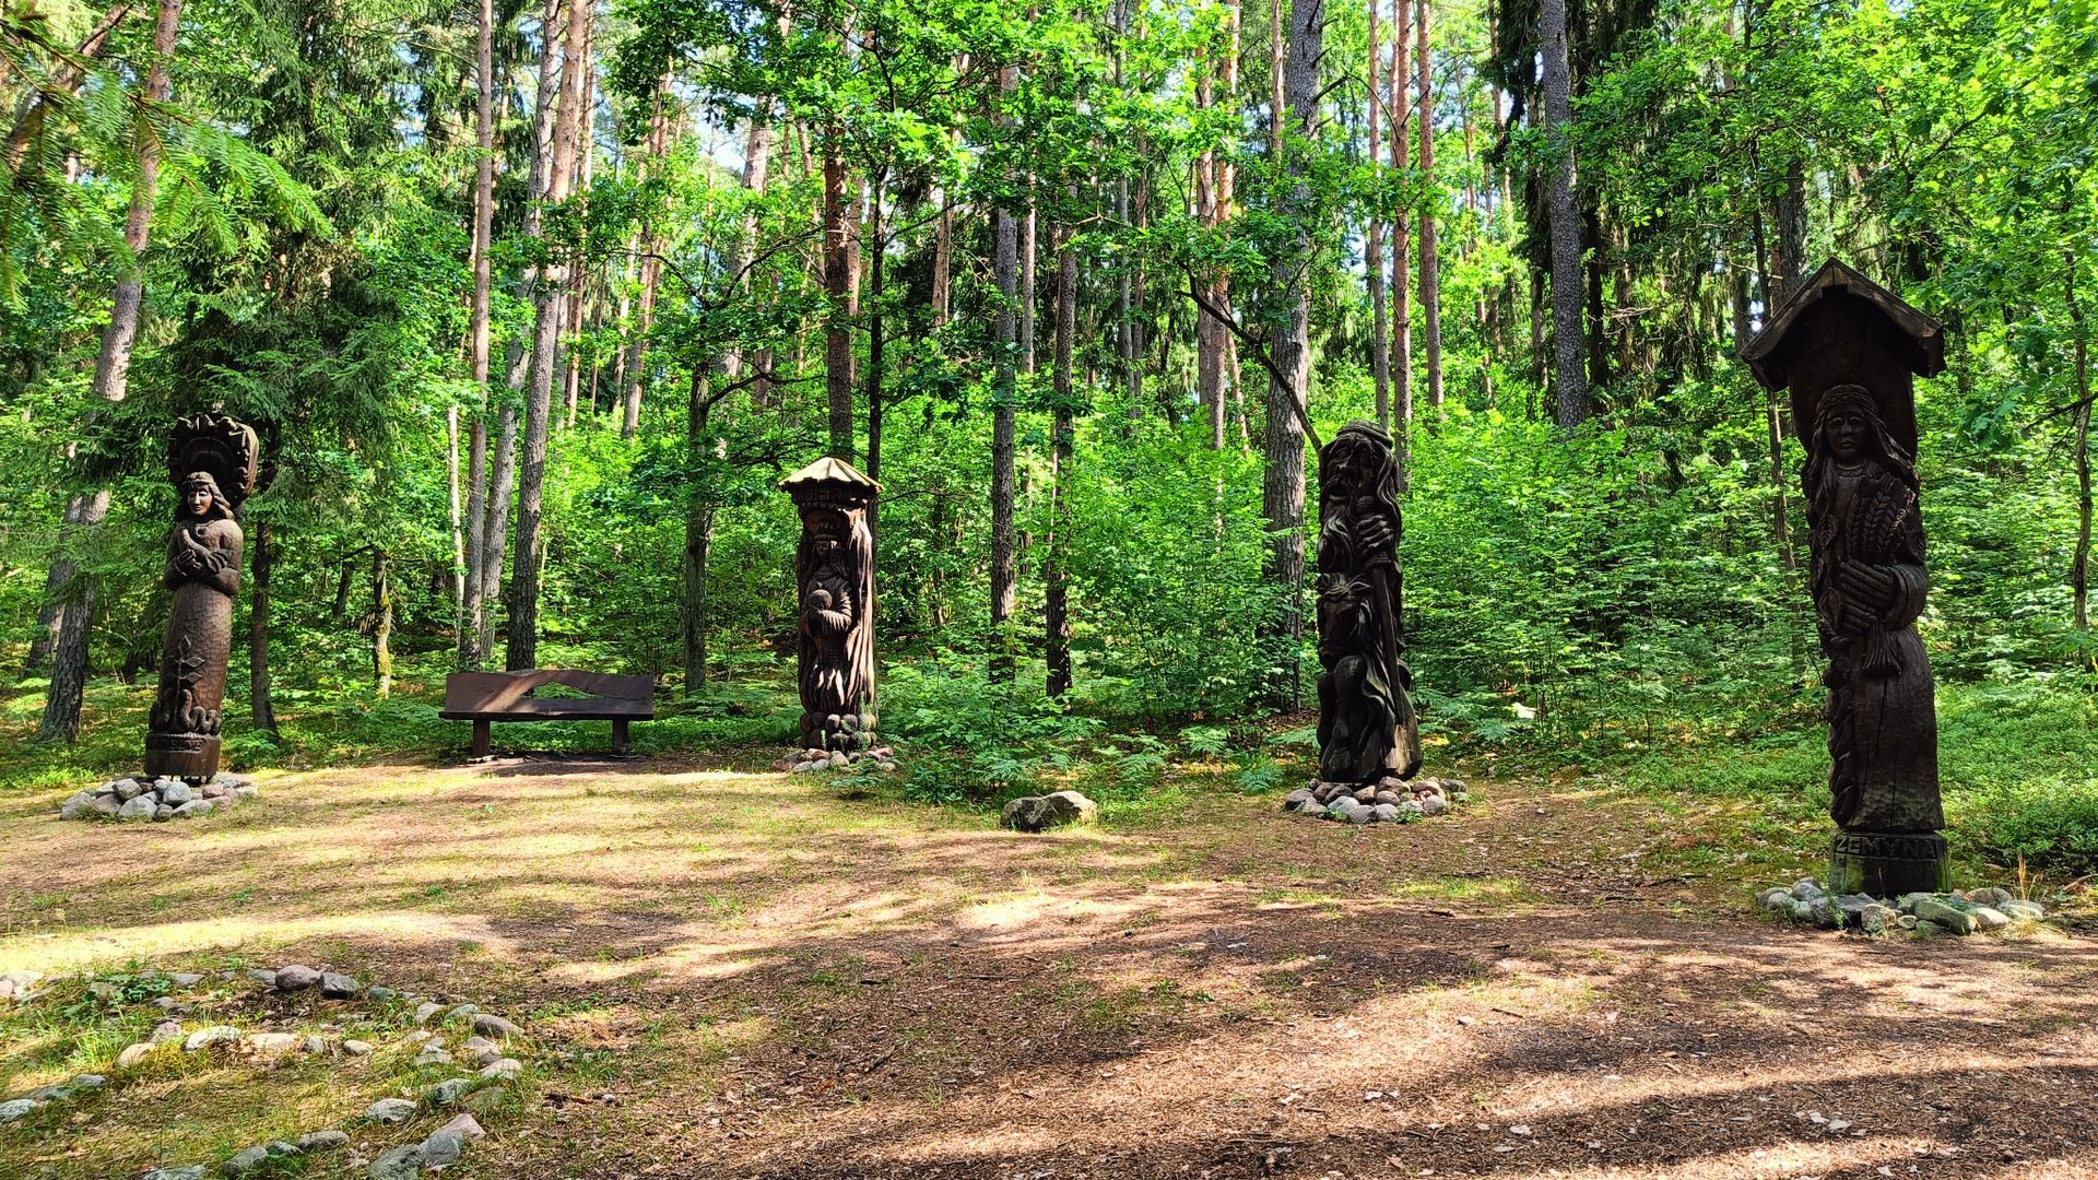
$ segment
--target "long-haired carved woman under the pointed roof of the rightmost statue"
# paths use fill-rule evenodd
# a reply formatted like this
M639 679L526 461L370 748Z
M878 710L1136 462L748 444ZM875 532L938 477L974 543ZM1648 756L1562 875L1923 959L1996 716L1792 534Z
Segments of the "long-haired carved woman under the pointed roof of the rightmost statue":
M1829 813L1846 831L1936 831L1939 726L1915 634L1928 588L1915 466L1863 386L1821 395L1802 485L1829 661Z

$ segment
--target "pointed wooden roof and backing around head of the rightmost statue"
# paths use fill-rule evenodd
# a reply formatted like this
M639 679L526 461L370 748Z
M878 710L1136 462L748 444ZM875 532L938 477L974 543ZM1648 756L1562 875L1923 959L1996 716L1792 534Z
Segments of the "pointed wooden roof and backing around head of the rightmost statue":
M1945 372L1945 330L1894 292L1829 258L1756 334L1741 359L1764 388L1792 388L1794 437L1808 437L1821 395L1871 393L1886 433L1915 454L1915 380Z

